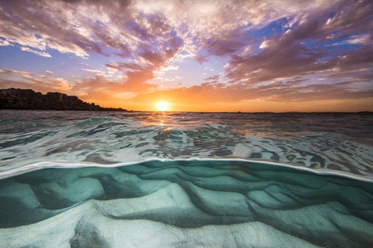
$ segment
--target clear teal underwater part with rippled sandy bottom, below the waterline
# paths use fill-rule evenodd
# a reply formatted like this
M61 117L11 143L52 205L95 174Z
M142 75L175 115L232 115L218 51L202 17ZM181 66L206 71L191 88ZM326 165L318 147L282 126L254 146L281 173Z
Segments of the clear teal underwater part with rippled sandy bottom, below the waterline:
M0 237L7 246L369 247L372 199L370 183L260 163L45 169L0 181Z

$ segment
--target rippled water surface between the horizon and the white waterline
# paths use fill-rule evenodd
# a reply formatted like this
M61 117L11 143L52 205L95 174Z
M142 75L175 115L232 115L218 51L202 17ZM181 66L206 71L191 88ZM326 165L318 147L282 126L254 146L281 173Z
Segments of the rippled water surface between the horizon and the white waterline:
M243 158L370 180L372 130L372 115L2 110L0 178L40 161Z

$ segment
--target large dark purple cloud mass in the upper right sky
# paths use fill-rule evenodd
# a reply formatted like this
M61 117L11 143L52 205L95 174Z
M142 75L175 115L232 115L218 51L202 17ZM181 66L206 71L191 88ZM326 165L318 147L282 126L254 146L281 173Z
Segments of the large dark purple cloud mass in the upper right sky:
M364 26L371 26L366 9L373 10L372 6L370 1L358 1L303 14L291 31L264 40L260 45L261 52L233 54L225 66L225 75L231 82L257 84L284 77L370 68L373 62L373 47L368 42L370 36L352 34L365 32ZM338 12L329 18L333 10ZM322 45L342 37L347 38L345 43L360 44L360 47L333 50Z

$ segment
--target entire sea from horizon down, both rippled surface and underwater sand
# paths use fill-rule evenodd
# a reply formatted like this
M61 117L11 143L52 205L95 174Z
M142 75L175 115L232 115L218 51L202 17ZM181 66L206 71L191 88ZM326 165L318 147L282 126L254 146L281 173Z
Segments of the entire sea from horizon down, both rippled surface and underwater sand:
M372 247L373 115L0 110L0 247Z

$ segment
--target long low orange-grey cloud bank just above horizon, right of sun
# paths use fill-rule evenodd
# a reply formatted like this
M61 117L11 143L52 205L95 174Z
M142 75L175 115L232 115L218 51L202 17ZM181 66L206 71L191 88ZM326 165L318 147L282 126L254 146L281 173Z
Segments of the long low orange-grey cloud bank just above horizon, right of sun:
M364 82L365 87L361 88L360 84L361 81L358 80L342 81L330 85L307 84L305 79L293 79L273 81L269 85L245 87L243 85L226 86L221 83L206 82L201 86L139 94L134 100L140 103L152 103L162 95L164 99L175 105L196 103L209 105L216 103L237 104L244 100L291 103L371 98L373 87L366 81Z

